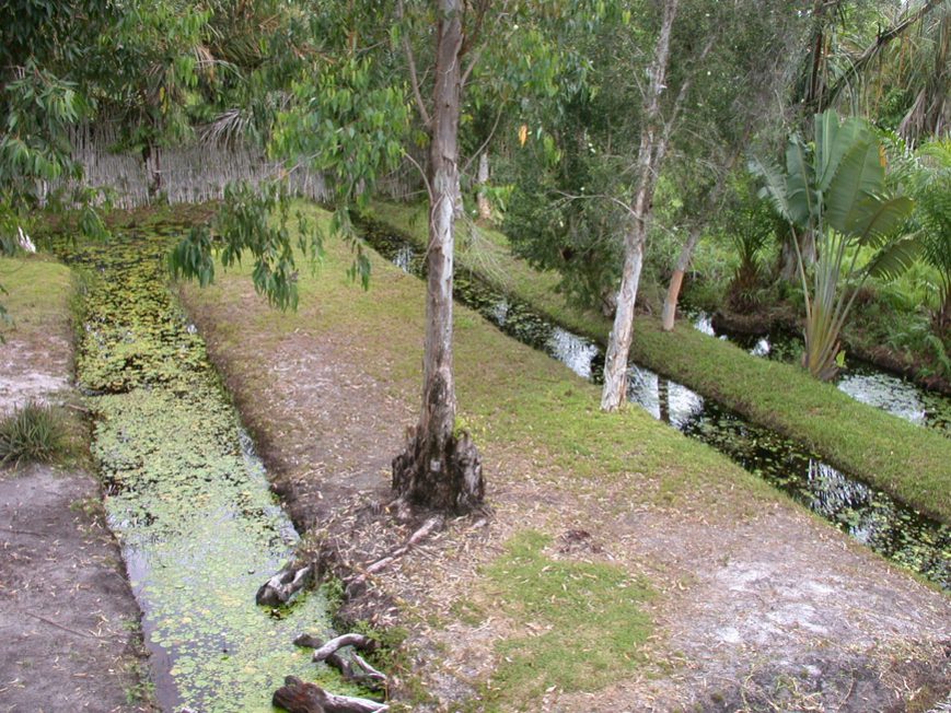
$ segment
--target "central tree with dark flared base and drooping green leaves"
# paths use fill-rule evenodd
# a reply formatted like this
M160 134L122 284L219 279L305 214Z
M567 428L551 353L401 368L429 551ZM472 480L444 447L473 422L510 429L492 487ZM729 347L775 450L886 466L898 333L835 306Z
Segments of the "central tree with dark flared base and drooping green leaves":
M592 3L596 8L599 3ZM558 51L552 24L592 14L587 3L517 0L375 0L309 5L310 61L292 70L286 102L269 142L275 155L323 172L333 191L330 221L356 249L352 273L364 284L369 261L351 211L369 207L382 176L402 161L417 164L429 196L428 284L419 420L405 451L393 460L393 487L411 504L465 512L484 496L478 451L456 430L453 374L452 285L455 221L460 202L460 127L466 90L478 82L483 97L499 86L521 85L523 102L550 91ZM414 118L415 117L415 118ZM426 147L420 161L414 147ZM267 197L219 224L223 257L250 250L259 290L278 306L293 306L294 254L287 198ZM281 220L268 224L268 210ZM175 250L173 269L210 281L214 241L200 231ZM313 254L317 238L302 237Z

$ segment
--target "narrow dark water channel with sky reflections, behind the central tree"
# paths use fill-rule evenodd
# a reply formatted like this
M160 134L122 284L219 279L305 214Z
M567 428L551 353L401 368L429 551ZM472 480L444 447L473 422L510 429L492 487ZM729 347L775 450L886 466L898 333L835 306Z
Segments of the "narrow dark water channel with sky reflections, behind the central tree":
M417 277L425 262L411 243L395 231L368 223L367 241L381 255ZM540 349L575 373L599 382L604 353L555 325L527 304L501 294L478 278L460 271L456 300L479 312L505 334ZM728 455L746 470L789 493L875 552L951 591L951 528L856 480L799 444L758 426L682 384L631 364L628 400L684 434Z

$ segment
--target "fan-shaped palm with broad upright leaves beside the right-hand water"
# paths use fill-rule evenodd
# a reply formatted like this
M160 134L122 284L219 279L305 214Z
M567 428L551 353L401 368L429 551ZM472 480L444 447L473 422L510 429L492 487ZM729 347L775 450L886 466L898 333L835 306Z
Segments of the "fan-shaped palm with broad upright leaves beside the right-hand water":
M838 337L857 294L849 282L900 274L914 262L919 243L896 237L914 203L886 196L884 150L869 125L854 117L839 122L828 110L815 115L813 136L809 144L790 136L784 168L759 159L750 168L764 180L762 195L815 241L811 287L795 242L805 295L803 360L814 376L827 381L838 371ZM856 267L862 247L878 252Z

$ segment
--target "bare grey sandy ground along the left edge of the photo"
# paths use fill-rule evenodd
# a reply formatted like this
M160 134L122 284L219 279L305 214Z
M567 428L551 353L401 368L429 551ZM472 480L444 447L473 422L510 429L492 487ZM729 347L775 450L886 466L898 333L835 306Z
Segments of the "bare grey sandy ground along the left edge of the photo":
M0 414L69 383L63 294L12 309ZM11 290L15 297L15 292ZM59 302L56 302L59 300ZM89 474L0 469L0 712L152 711L139 611Z

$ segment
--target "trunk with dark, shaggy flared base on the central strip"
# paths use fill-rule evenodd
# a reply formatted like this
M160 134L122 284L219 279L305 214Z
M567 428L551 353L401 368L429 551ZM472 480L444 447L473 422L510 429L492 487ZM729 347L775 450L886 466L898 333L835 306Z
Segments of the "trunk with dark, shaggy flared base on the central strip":
M452 261L459 195L461 0L439 0L429 183L428 284L422 410L406 451L393 460L393 488L414 504L466 512L482 503L485 484L468 434L453 434Z

